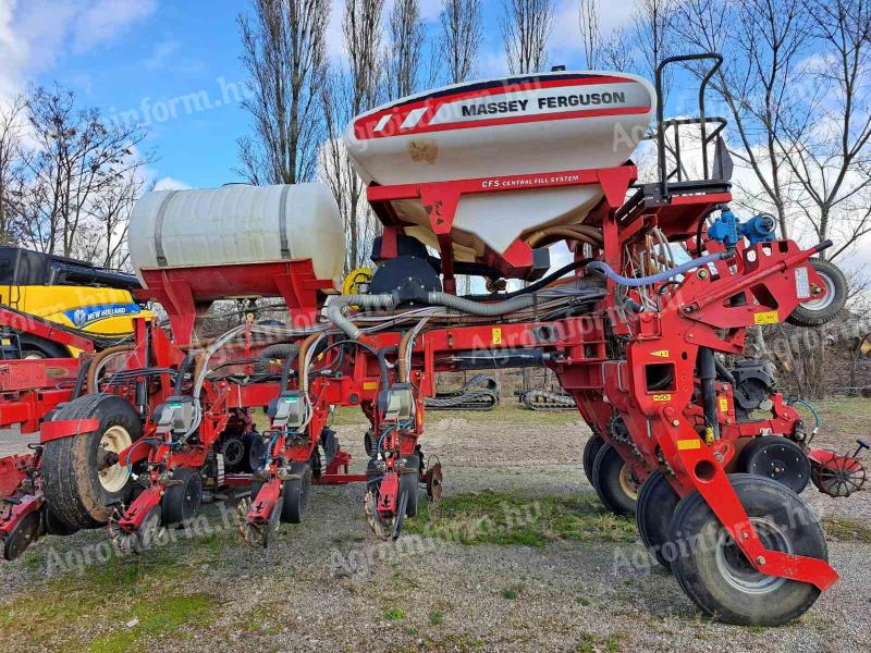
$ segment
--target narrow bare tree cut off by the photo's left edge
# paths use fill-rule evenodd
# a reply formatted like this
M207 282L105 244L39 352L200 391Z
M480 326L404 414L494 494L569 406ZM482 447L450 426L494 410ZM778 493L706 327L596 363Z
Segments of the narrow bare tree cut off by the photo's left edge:
M16 241L24 194L26 152L22 145L24 96L0 107L0 244Z

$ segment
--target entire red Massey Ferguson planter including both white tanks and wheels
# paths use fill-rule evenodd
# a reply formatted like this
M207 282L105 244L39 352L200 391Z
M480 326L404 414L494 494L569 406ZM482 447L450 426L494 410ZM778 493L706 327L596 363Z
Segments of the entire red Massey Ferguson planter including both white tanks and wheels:
M721 62L663 65L688 59ZM629 157L654 111L660 178L643 185ZM375 273L341 286L341 221L320 186L147 195L132 259L171 329L138 319L133 342L84 356L34 454L0 460L7 557L103 525L145 551L204 492L233 489L244 540L268 546L304 519L312 484L353 481L375 535L398 538L420 486L441 494L424 431L436 374L547 366L593 432L584 464L602 503L635 514L691 601L733 624L801 615L837 574L799 493L847 496L866 471L858 451L813 448L769 366L740 356L747 326L832 320L844 276L815 256L830 243L802 248L729 208L724 122L700 114L664 120L637 77L557 72L360 115L347 150L383 232ZM682 127L701 132L706 178L682 176L679 147L666 156ZM551 270L557 242L574 260ZM458 296L456 274L489 294ZM500 291L507 279L529 283ZM265 296L285 299L286 320L196 337L211 300ZM357 475L328 427L335 406L370 422Z

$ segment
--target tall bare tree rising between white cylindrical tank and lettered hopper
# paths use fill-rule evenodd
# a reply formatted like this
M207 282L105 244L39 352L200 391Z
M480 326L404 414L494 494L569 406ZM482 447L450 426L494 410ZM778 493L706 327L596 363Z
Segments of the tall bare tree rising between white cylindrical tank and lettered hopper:
M347 0L342 21L347 67L333 71L321 95L327 139L321 147L320 171L344 221L346 271L358 268L369 257L369 246L379 227L342 136L354 116L373 109L384 95L383 9L384 0Z

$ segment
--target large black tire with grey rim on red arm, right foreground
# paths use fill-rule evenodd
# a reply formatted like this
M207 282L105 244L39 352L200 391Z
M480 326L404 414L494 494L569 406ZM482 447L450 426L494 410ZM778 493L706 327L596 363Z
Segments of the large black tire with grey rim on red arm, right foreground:
M829 559L825 534L807 504L792 490L765 477L746 473L729 475L735 492L751 520L770 520L792 546L793 553L823 560ZM759 525L755 523L759 530ZM769 527L771 528L771 527ZM745 591L735 587L734 572L724 574L717 565L717 551L732 551L717 544L724 529L698 491L677 505L672 521L672 539L691 543L680 547L672 560L677 582L704 613L737 626L782 626L801 616L813 605L820 590L795 580L775 580L766 591ZM771 539L770 535L766 537ZM763 538L763 541L765 538ZM771 547L766 543L766 547ZM785 545L781 545L781 549ZM734 559L734 558L733 558ZM741 559L741 558L738 558ZM748 568L749 564L744 562ZM750 579L764 580L762 575Z

